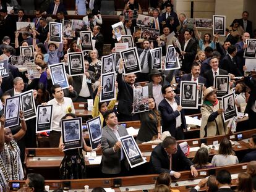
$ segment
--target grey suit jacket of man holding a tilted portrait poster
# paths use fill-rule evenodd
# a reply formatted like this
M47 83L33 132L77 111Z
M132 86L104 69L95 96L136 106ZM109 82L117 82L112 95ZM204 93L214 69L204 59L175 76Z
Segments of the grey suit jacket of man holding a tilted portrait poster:
M126 136L128 135L126 128L121 125L117 125L119 135ZM102 139L101 139L101 150L102 150L102 159L101 159L101 171L107 174L118 174L121 172L121 150L114 152L113 147L117 142L116 135L114 135L113 130L106 125L102 130ZM124 154L124 151L123 151ZM124 159L126 156L124 154ZM127 161L126 166L128 167Z

